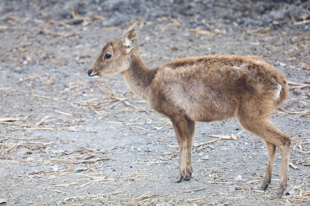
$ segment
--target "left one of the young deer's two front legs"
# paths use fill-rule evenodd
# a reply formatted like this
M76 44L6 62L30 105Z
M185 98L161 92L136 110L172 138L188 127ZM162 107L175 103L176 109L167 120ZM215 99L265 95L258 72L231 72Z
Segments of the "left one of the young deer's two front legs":
M178 141L179 144L179 150L180 150L180 162L179 162L179 173L177 175L177 177L172 180L172 182L181 182L184 178L185 171L186 171L186 167L189 168L189 171L192 171L192 154L188 154L187 148L192 145L192 142L188 142L188 120L182 116L182 115L177 115L174 116L172 118L170 118L174 127L174 131L175 131L175 136L176 139ZM190 122L191 123L191 122ZM190 124L191 125L191 124ZM190 158L190 164L189 162L186 160L186 158ZM188 175L187 175L188 176ZM190 179L190 177L189 177ZM189 180L188 179L188 180Z

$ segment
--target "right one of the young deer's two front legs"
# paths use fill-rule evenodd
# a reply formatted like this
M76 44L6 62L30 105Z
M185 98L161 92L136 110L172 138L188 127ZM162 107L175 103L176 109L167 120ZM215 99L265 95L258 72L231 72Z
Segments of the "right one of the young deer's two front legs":
M187 120L187 145L186 145L186 174L184 180L189 181L193 173L193 136L195 132L195 122Z

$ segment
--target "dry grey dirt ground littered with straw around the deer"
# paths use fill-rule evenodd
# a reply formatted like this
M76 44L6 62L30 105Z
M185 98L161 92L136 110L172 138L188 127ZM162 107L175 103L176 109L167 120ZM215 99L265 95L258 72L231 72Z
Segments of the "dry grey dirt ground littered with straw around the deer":
M149 67L256 54L287 76L290 95L272 114L292 137L282 198L273 197L279 152L261 191L266 147L235 119L196 123L193 178L171 182L179 162L171 122L120 75L87 76L133 22ZM310 1L0 1L0 205L310 205Z

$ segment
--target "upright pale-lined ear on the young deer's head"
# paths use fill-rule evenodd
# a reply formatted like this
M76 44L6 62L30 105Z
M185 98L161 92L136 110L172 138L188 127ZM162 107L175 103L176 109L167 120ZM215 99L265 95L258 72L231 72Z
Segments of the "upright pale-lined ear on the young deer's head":
M131 24L124 36L123 36L123 45L127 47L127 53L130 52L132 48L135 48L138 45L139 31L137 24Z

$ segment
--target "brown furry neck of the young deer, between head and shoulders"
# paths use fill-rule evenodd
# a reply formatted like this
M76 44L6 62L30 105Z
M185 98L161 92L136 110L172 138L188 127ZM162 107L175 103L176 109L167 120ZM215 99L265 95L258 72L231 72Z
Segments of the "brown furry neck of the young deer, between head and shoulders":
M130 67L122 73L122 76L135 95L144 100L148 100L150 85L155 78L158 68L148 68L136 49L132 49L130 53Z

